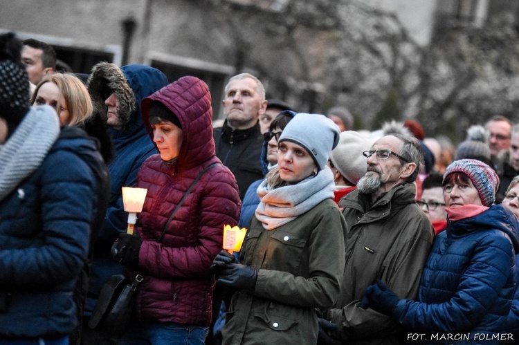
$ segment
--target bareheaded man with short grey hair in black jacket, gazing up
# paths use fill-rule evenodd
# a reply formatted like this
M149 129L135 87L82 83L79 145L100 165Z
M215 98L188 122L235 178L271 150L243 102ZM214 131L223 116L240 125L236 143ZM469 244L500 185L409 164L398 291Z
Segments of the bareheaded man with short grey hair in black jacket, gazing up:
M243 201L248 186L263 178L258 118L266 111L265 88L254 75L242 73L230 78L225 93L226 120L213 136L217 157L235 175Z

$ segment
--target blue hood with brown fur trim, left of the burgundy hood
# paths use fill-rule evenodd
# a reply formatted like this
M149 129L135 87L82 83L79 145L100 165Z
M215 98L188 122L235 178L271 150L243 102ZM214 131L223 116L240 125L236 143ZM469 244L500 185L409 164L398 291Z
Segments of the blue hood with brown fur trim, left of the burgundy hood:
M95 111L107 113L104 100L110 93L119 99L118 116L125 134L142 128L140 101L167 85L167 78L156 68L131 64L119 68L116 64L100 62L93 66L86 86Z

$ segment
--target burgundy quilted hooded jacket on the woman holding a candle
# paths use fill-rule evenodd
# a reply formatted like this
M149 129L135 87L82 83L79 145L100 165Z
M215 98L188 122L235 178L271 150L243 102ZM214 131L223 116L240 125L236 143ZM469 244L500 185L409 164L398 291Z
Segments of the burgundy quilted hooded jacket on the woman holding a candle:
M158 243L167 218L199 172L214 162L211 95L196 77L182 77L141 103L149 126L152 100L163 102L179 118L182 144L171 164L156 154L139 170L137 187L147 188L136 233L143 239L139 269L145 279L138 288L137 309L143 317L162 322L208 326L211 318L212 260L221 250L225 224L236 225L240 201L235 177L224 165L208 169Z

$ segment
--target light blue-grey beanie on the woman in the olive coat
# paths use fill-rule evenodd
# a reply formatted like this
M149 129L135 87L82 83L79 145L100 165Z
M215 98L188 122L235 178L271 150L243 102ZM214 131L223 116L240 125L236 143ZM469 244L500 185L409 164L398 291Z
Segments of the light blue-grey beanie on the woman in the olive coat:
M279 142L300 144L322 169L339 142L339 133L339 127L325 115L298 113L284 128Z

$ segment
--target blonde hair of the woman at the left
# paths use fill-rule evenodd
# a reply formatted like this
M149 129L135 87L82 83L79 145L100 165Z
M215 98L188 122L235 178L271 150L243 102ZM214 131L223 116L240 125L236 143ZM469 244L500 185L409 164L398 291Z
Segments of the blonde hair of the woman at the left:
M60 89L56 109L60 109L64 106L69 111L70 118L67 125L77 125L92 115L93 106L89 91L80 78L69 73L46 75L42 81L37 84L33 96L30 97L31 105L33 105L36 100L39 88L46 82L52 82ZM60 104L61 96L64 97L66 104Z

